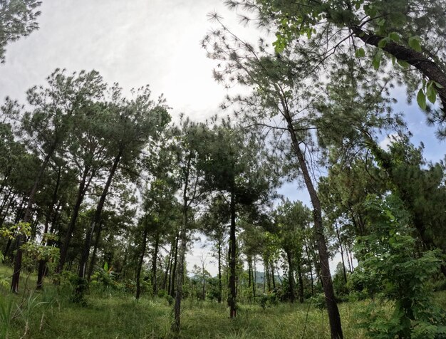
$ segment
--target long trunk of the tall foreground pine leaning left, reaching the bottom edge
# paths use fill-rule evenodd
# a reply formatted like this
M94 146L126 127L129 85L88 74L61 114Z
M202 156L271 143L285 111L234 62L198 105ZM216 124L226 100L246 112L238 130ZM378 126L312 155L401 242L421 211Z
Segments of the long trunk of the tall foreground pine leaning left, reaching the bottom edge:
M332 339L343 339L341 316L339 315L338 305L334 296L333 283L331 282L330 266L328 264L328 251L326 239L323 234L322 209L316 189L313 186L311 175L308 172L304 154L299 146L299 141L294 131L293 122L288 110L284 112L288 129L291 135L291 141L299 162L299 167L304 176L304 182L310 195L311 204L313 205L313 221L316 231L316 240L318 242L319 260L321 262L321 280L323 281L323 293L326 298L326 306L328 311L328 320L330 321L330 332Z

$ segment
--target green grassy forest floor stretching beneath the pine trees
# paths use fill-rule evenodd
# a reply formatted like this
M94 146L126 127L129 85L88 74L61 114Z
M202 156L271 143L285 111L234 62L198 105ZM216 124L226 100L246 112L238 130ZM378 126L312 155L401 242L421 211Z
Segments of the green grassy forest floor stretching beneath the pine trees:
M0 338L170 338L172 306L165 298L135 301L128 293L98 288L81 306L69 301L68 286L47 286L43 291L22 288L17 296L0 289ZM446 309L446 291L436 299ZM339 304L344 338L365 338L358 325L368 303ZM230 320L224 303L189 298L182 303L181 338L329 338L328 318L326 310L306 302L265 309L239 304L237 318Z

